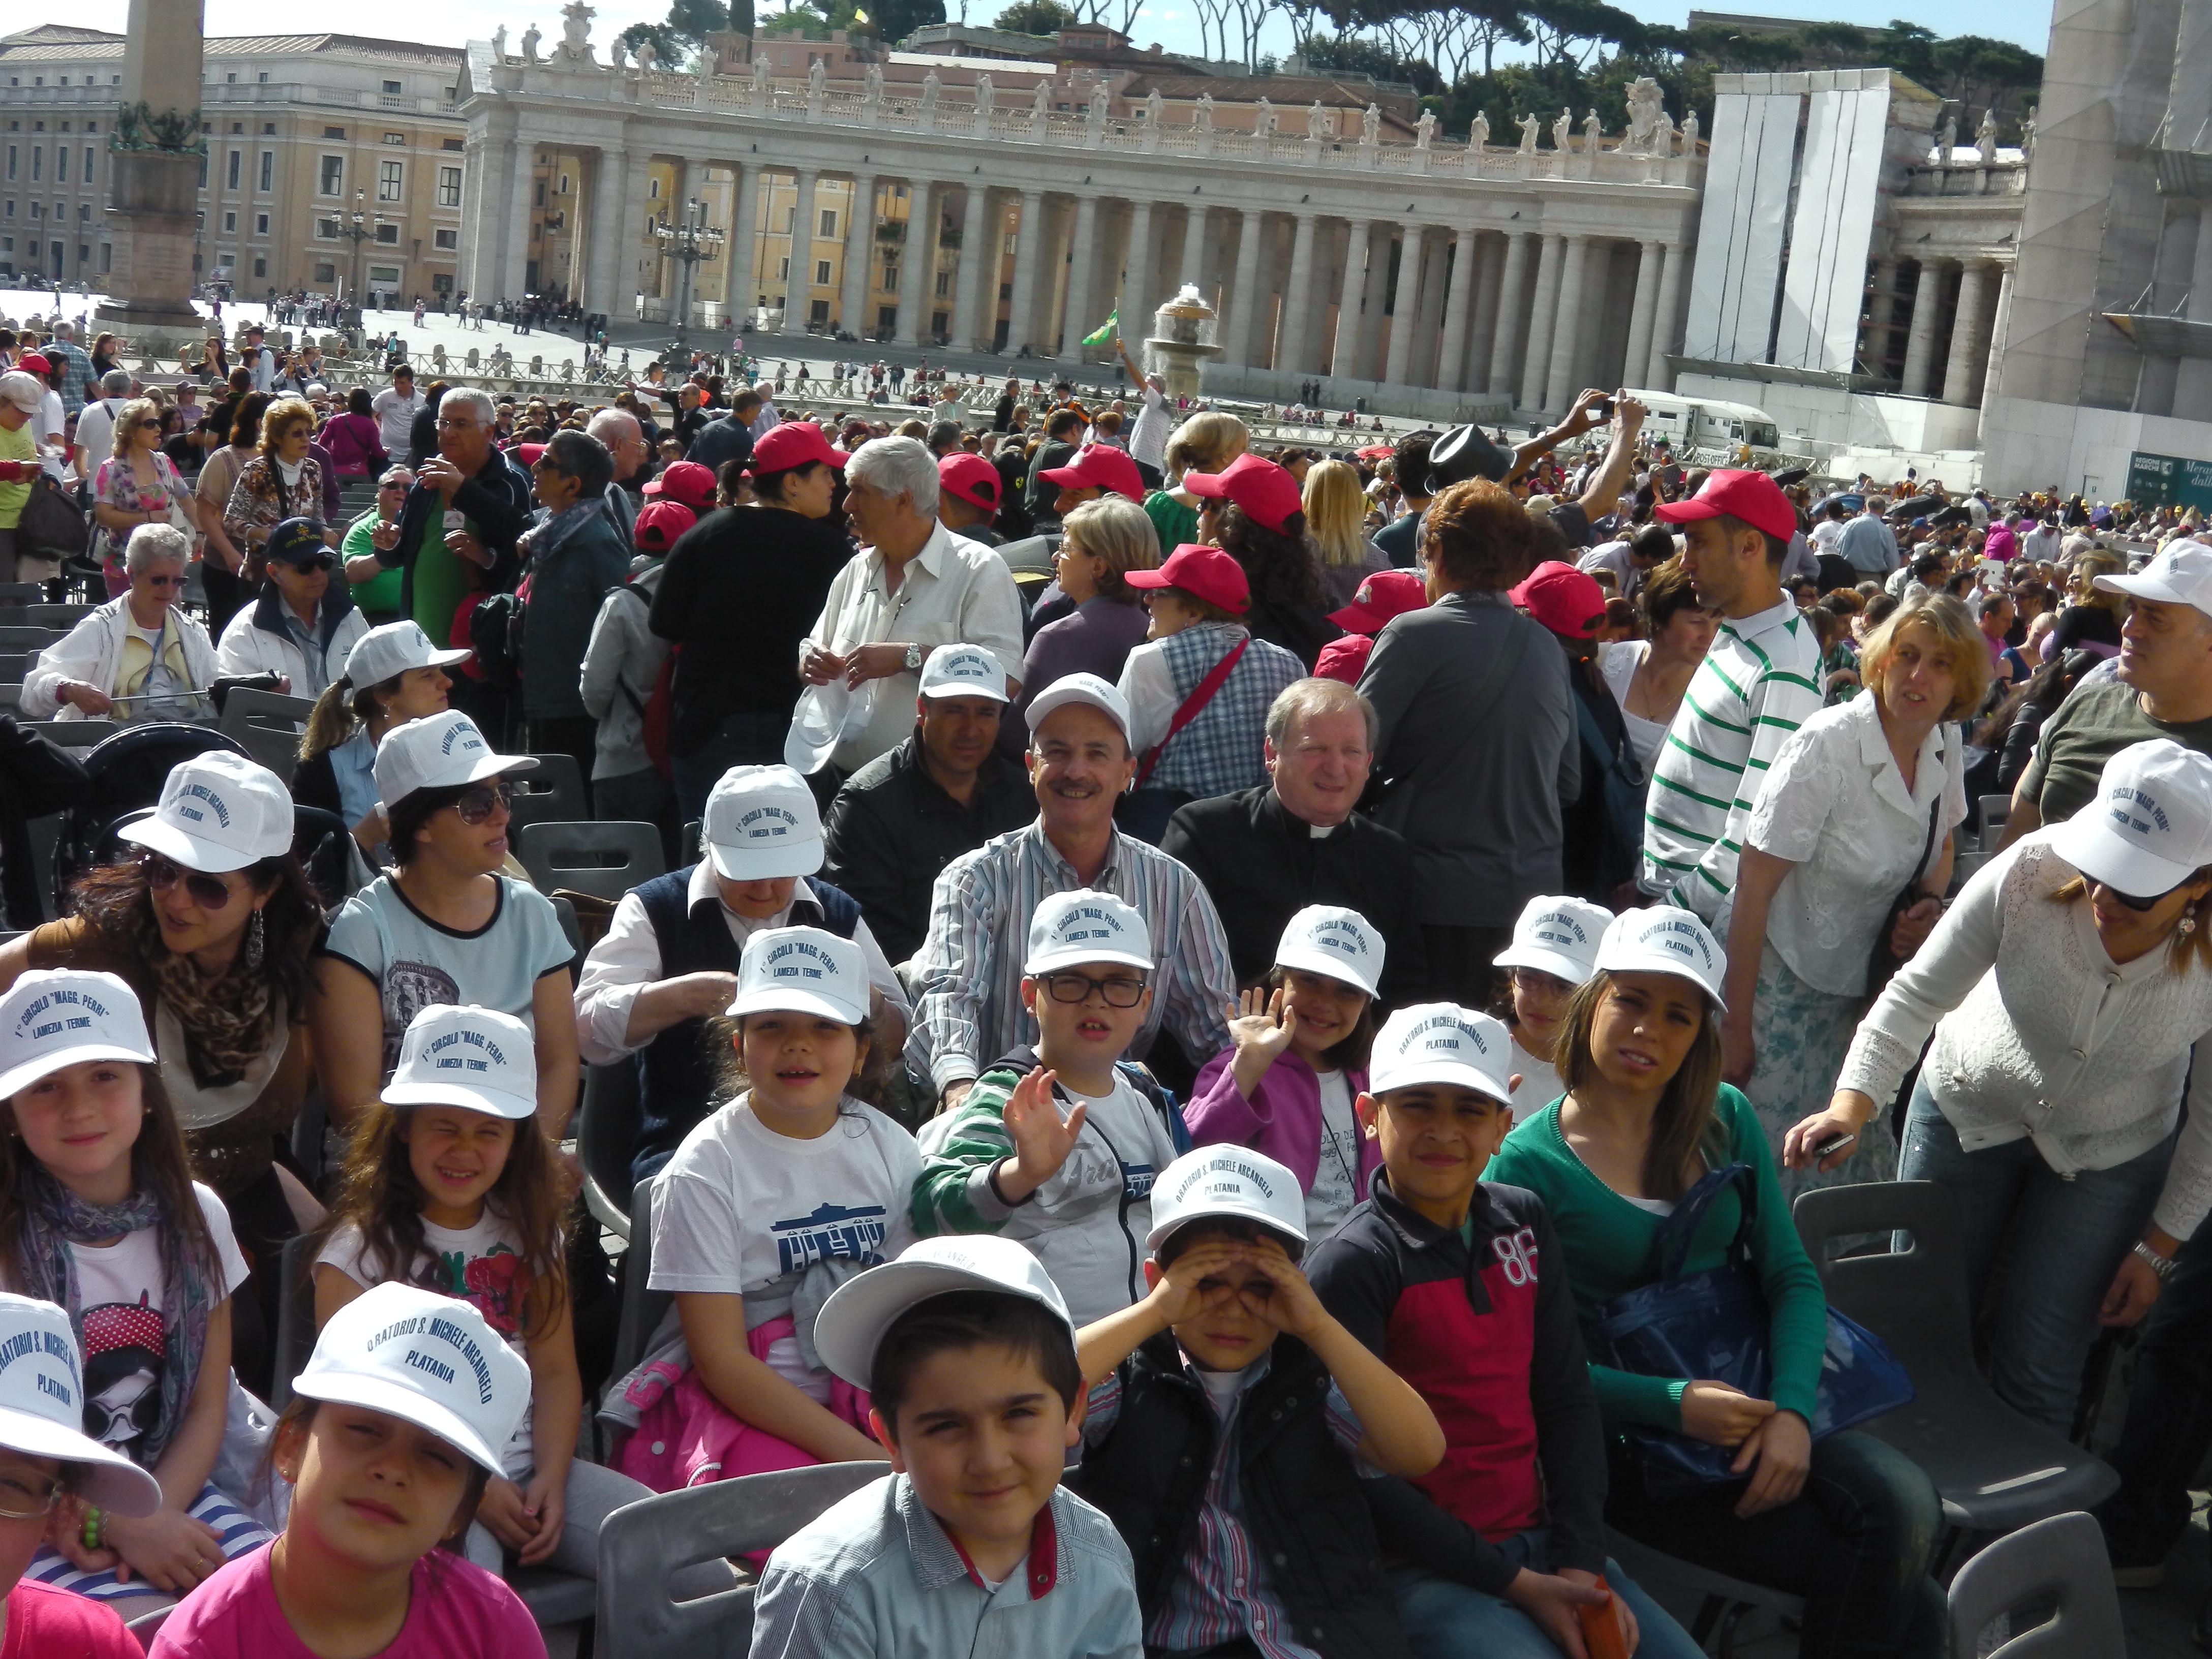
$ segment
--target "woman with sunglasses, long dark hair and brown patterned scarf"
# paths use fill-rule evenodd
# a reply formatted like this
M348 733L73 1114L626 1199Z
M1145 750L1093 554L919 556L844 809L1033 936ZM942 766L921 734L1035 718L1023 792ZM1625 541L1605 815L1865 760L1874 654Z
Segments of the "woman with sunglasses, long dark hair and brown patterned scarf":
M307 962L323 909L292 856L292 796L243 754L179 763L122 854L88 869L71 914L0 947L0 993L24 969L115 973L137 993L192 1177L221 1197L254 1263L232 1303L237 1371L263 1398L285 1239L323 1219L276 1166L314 1077Z

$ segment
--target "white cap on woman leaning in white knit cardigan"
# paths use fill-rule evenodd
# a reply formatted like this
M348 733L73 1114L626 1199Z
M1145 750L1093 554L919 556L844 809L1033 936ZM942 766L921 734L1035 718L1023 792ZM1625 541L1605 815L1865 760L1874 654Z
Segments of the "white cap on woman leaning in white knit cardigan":
M2179 887L2212 865L2212 757L2168 737L2130 743L2104 763L2088 805L2051 832L2051 847L2130 898Z

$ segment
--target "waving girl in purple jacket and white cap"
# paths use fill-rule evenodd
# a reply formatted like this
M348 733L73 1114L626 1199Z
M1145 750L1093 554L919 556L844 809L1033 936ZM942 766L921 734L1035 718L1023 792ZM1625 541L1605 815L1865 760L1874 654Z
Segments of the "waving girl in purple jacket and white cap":
M1383 958L1383 933L1358 911L1307 905L1292 916L1265 984L1228 1011L1232 1046L1199 1068L1183 1108L1199 1146L1281 1159L1314 1239L1367 1197L1380 1157L1352 1102L1367 1093Z

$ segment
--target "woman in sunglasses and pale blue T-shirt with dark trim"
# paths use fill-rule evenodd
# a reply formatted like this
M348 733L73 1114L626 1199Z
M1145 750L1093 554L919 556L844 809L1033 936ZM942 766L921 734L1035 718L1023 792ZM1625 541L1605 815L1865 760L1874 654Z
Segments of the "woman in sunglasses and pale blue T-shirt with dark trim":
M529 754L493 754L467 714L407 721L376 745L394 869L330 920L307 1024L330 1121L349 1133L398 1066L407 1022L431 1004L511 1013L535 1029L538 1124L560 1139L575 1108L575 951L553 900L500 874L509 805Z

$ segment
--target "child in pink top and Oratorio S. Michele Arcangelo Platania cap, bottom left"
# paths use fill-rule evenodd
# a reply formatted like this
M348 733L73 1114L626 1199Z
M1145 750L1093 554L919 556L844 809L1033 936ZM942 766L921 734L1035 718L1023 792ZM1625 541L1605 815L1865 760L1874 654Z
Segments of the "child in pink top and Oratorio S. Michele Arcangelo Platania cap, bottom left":
M544 1659L502 1579L440 1548L469 1526L529 1413L531 1371L484 1316L376 1285L323 1327L276 1420L285 1528L179 1606L161 1659Z

